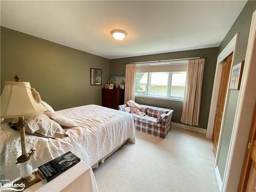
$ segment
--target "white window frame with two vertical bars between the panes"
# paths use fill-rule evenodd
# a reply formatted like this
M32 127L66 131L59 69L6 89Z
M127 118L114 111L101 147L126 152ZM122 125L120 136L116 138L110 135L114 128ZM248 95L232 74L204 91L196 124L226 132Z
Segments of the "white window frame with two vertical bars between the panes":
M180 97L172 97L170 96L170 93L172 91L172 77L173 77L174 71L168 72L168 82L167 82L167 93L166 96L158 96L158 95L150 95L151 92L151 75L152 72L147 72L147 88L146 88L146 94L138 94L135 93L136 97L146 97L146 98L154 98L154 99L165 99L165 100L173 100L173 101L183 101L183 98Z

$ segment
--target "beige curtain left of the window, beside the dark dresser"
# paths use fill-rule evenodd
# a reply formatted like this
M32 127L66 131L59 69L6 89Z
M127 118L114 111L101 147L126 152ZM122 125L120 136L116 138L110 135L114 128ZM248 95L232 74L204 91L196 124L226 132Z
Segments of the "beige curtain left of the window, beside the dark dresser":
M135 73L136 73L136 64L126 65L124 103L126 103L129 100L135 101Z

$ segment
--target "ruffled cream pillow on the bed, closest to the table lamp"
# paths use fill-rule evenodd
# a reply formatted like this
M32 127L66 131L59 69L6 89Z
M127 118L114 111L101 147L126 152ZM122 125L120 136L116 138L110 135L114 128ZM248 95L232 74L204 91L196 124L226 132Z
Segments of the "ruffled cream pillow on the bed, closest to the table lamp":
M25 130L29 134L36 135L36 136L42 135L43 137L50 137L50 138L63 138L68 136L57 122L50 119L45 114L30 116L25 121L28 122L28 124L25 126ZM35 127L37 125L38 130L36 130L35 132L31 131L33 129L36 129L35 127L31 127L32 125Z

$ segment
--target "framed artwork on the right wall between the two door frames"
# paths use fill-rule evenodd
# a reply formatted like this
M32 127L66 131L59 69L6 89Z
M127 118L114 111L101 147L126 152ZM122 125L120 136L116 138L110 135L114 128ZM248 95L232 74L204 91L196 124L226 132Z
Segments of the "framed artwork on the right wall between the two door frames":
M240 90L243 70L244 70L244 61L232 67L229 89Z

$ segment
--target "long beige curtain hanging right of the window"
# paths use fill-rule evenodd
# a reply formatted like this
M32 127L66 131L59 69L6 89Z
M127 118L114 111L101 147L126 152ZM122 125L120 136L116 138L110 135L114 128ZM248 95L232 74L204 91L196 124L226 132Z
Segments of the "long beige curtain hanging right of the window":
M186 88L181 122L198 125L204 72L204 58L190 59L187 65Z

